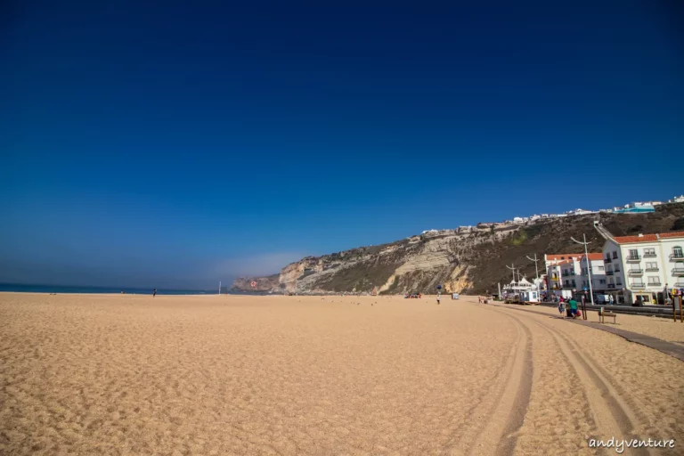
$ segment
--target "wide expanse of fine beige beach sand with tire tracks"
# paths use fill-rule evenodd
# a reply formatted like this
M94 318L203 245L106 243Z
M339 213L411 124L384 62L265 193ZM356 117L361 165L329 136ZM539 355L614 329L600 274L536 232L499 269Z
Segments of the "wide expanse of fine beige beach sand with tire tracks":
M0 454L684 453L684 362L476 301L3 293Z

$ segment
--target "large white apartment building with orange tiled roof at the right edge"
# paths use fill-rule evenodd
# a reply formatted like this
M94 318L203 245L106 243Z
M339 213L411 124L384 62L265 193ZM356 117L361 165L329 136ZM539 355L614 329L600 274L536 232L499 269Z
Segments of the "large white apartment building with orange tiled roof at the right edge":
M603 258L617 304L664 304L665 292L684 289L684 232L612 237Z

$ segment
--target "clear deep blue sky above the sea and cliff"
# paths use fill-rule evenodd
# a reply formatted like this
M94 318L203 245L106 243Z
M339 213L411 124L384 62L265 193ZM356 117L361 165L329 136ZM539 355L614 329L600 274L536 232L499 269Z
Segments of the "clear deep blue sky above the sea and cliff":
M0 6L0 281L214 287L682 192L680 2L154 4Z

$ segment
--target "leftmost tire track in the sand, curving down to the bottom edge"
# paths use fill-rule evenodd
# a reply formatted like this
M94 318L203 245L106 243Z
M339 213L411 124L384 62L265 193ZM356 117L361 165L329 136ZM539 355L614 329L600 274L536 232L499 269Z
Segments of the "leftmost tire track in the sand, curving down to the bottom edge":
M532 395L533 362L532 331L516 317L507 316L522 334L524 344L518 344L501 396L487 413L485 424L469 445L468 455L494 454L509 456L517 443L517 431L523 426L525 411ZM492 447L496 450L492 452Z

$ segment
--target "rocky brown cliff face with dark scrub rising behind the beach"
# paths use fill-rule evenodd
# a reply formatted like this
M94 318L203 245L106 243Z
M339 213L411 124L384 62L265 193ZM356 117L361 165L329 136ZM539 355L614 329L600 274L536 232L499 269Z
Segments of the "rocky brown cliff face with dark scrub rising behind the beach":
M562 217L531 224L478 224L465 230L426 232L381 246L353 248L324 256L307 256L285 266L280 274L238 279L236 290L292 293L484 293L497 283L510 281L506 265L515 264L534 277L534 264L525 256L545 253L583 253L570 237L586 234L590 251L600 252L603 238L593 228L600 220L616 236L643 232L667 232L681 224L684 204L656 207L648 214L591 214ZM679 222L678 222L679 220Z

